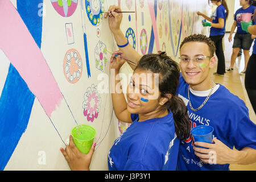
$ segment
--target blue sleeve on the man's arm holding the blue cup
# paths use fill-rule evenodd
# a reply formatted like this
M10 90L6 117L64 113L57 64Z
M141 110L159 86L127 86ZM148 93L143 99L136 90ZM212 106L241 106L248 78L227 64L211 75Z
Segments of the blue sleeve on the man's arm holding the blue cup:
M244 102L242 106L236 109L237 121L232 122L232 136L233 144L237 150L242 150L245 147L256 149L256 125L250 120L248 109Z

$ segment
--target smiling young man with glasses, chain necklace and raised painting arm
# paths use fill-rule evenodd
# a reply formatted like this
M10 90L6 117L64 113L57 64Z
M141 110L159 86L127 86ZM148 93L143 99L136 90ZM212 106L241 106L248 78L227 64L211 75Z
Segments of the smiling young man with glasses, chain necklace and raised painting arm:
M118 6L110 6L112 13L105 14L105 18L109 16L114 38L118 45L123 45L127 39L119 28L122 14L115 10L121 11ZM141 57L129 44L120 49L127 59L138 61ZM250 121L245 103L210 79L210 69L216 62L214 51L214 43L204 35L189 36L180 46L182 75L177 94L188 107L191 129L199 125L213 126L214 143L194 143L191 136L183 140L179 170L229 170L229 164L256 162L256 125Z

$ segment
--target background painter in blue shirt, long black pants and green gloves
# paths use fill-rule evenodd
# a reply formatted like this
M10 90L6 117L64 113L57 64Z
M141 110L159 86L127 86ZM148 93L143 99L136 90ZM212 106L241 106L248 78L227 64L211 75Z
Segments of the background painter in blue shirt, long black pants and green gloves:
M214 75L224 76L225 71L225 56L222 47L222 39L225 35L225 27L226 27L226 18L228 17L229 10L228 6L226 5L225 0L211 0L212 3L217 5L217 9L214 11L212 18L208 17L207 15L201 13L200 11L197 12L197 15L203 16L209 22L202 22L204 27L211 27L210 28L210 36L209 38L215 44L216 47L216 56L218 58L218 65L217 65L217 72L213 73Z

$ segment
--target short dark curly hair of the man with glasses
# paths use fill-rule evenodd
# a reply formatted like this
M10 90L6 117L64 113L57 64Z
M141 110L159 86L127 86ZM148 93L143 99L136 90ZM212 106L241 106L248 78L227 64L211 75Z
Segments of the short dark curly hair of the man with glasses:
M202 35L202 34L193 34L193 35L187 36L183 40L183 42L181 42L180 49L183 46L183 44L185 44L187 42L204 42L204 43L207 43L207 45L209 47L209 51L210 51L210 56L213 56L214 52L216 50L214 42L212 40L210 40L210 38L208 38L207 36Z

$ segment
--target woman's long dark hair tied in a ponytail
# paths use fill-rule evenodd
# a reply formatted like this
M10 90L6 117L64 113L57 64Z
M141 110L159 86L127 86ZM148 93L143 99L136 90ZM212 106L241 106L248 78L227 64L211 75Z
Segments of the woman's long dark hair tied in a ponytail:
M142 56L136 69L144 69L152 73L159 73L159 91L161 97L171 94L162 109L172 111L174 115L175 133L177 138L186 139L190 134L190 123L188 109L180 97L177 96L176 90L179 85L180 68L179 65L167 56L165 52L160 54L148 54Z

